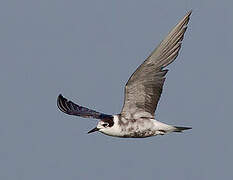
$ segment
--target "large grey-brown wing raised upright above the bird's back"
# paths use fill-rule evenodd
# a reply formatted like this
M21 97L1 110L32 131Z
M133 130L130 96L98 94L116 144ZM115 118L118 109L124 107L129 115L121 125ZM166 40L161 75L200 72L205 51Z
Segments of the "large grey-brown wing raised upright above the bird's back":
M125 100L121 111L126 119L132 118L136 113L154 117L168 72L163 68L178 56L191 13L189 11L184 16L129 78L125 86Z

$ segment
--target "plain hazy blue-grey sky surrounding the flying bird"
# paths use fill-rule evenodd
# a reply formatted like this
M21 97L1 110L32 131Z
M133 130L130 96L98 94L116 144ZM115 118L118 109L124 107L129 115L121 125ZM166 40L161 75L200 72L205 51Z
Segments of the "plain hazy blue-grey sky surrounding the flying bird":
M146 139L87 135L59 93L119 113L124 85L193 9L156 112L192 126ZM2 0L0 179L233 179L232 0Z

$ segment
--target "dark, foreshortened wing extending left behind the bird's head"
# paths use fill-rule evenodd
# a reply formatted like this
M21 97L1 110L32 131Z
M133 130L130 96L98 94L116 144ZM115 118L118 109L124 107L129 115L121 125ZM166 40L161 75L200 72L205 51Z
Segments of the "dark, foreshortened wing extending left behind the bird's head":
M68 101L61 94L57 97L57 106L62 112L66 114L81 116L84 118L103 119L105 117L111 116L79 106L72 101Z

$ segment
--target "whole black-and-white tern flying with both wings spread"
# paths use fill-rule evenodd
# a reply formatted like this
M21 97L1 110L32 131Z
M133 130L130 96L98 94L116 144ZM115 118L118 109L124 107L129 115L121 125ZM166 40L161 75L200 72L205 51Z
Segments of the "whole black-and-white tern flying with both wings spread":
M191 129L168 125L154 118L168 72L164 68L178 56L191 13L189 11L183 17L131 75L125 85L124 105L120 114L108 115L94 111L68 101L61 94L57 98L58 108L69 115L100 119L88 133L99 131L115 137L145 138Z

